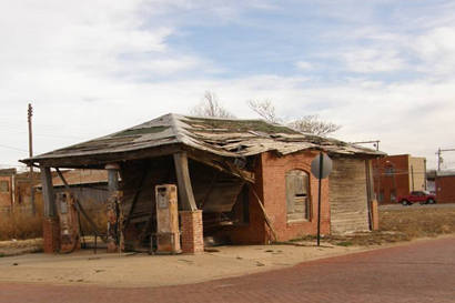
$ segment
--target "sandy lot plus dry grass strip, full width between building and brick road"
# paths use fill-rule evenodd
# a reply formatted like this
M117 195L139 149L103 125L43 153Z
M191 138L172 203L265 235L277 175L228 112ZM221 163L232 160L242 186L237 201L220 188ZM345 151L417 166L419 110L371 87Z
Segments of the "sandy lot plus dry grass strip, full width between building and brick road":
M381 210L380 231L325 236L320 248L313 238L307 238L274 245L219 246L200 255L119 255L100 253L102 250L98 254L87 250L50 255L30 253L41 250L40 239L8 241L0 242L0 282L124 287L188 284L435 236L455 236L455 209ZM28 254L18 255L20 253Z

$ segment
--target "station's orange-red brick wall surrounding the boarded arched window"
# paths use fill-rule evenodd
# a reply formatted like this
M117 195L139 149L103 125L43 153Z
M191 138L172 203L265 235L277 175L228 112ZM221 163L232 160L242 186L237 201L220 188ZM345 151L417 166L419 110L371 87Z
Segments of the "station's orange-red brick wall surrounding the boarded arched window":
M299 152L286 156L273 153L260 155L254 188L264 203L265 211L277 233L279 241L287 241L316 234L317 232L317 179L311 170L311 161L317 152ZM291 170L302 170L310 174L311 220L287 223L286 213L286 179ZM328 181L322 182L321 232L330 233ZM231 234L234 243L266 243L272 239L271 231L265 225L264 215L256 199L250 193L250 224L239 228Z

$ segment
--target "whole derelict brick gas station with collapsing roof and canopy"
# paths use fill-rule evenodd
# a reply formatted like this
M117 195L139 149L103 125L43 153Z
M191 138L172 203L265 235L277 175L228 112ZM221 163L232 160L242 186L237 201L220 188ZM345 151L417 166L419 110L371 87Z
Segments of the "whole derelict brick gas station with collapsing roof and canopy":
M311 162L333 160L321 186L323 234L377 229L372 161L384 154L262 120L166 114L22 160L41 170L44 252L80 248L71 194L54 193L51 170L107 170L108 251L199 253L204 238L263 244L314 235L317 179Z

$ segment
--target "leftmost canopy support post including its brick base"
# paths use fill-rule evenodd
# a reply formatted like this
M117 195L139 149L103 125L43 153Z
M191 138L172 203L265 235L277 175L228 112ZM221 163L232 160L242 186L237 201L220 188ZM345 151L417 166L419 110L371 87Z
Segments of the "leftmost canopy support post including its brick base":
M41 166L42 196L44 201L43 250L54 253L60 249L60 224L57 216L55 195L53 193L51 169Z

